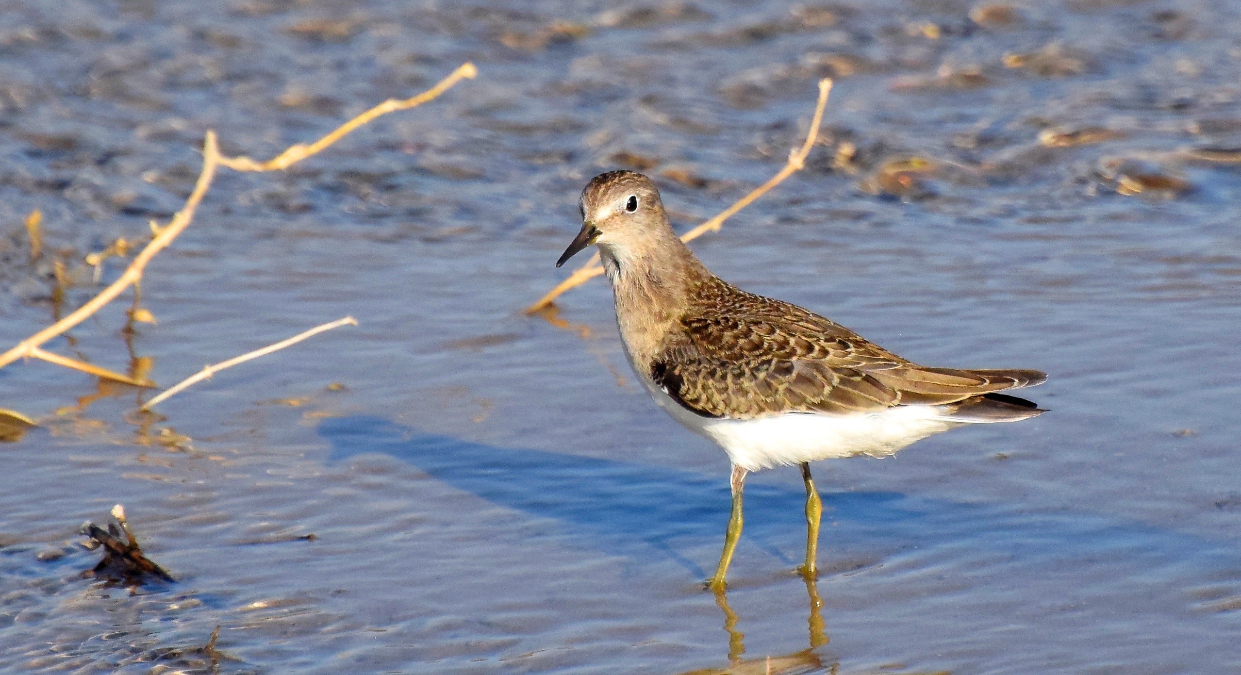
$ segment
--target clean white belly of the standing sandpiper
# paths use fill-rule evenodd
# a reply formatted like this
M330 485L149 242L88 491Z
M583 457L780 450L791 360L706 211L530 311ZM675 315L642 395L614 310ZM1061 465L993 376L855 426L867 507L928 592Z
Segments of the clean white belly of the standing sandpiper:
M819 459L887 457L915 440L959 427L934 406L897 406L865 414L792 412L756 419L715 419L685 409L664 390L640 377L659 407L728 453L742 469L756 472Z

